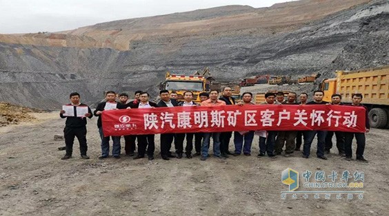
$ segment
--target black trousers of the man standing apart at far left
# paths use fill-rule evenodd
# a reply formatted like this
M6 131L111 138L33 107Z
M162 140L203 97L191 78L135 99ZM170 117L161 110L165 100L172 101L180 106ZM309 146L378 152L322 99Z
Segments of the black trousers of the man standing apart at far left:
M86 155L88 145L86 144L86 127L65 127L63 129L63 138L65 138L66 155L72 155L74 137L77 137L80 144L81 155Z

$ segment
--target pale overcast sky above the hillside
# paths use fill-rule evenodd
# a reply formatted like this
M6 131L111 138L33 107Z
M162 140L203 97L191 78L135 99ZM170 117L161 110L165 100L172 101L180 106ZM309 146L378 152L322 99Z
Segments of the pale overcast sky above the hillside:
M0 34L59 32L120 19L285 1L291 0L0 0Z

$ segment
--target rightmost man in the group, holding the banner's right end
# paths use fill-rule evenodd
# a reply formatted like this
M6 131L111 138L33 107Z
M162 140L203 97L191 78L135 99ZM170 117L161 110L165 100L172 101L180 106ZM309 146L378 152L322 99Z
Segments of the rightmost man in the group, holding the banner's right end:
M361 104L362 101L362 94L352 94L352 104L350 107L363 107L365 108L365 116L366 116L366 133L370 131L370 122L369 122L369 111L368 107L365 107ZM351 108L352 109L352 108ZM366 137L365 133L354 133L354 132L345 132L345 153L346 153L346 160L352 160L352 139L355 136L355 140L357 140L357 160L361 162L368 163L368 160L366 160L363 157L363 152L365 151L365 144L366 144Z

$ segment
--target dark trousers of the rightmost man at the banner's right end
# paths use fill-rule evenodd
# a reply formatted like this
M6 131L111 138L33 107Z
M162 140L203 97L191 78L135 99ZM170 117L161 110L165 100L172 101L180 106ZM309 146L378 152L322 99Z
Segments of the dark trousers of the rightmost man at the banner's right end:
M366 137L365 133L352 133L352 132L344 132L345 134L345 153L346 158L352 157L352 139L355 136L355 140L357 140L357 159L363 158L363 152L365 151Z

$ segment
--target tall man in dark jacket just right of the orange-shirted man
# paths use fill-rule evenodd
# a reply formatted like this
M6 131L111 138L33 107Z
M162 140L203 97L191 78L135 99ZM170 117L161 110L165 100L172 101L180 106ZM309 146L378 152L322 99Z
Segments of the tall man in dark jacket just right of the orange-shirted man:
M230 87L224 87L223 91L221 91L221 97L219 100L223 100L226 102L226 105L243 105L241 102L238 104L235 103L235 99L231 97L232 90ZM232 155L230 151L228 151L228 146L230 144L230 139L232 136L232 131L221 132L220 133L220 153L224 158L228 158L228 155Z

